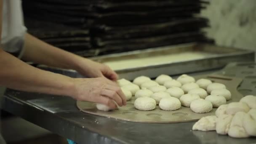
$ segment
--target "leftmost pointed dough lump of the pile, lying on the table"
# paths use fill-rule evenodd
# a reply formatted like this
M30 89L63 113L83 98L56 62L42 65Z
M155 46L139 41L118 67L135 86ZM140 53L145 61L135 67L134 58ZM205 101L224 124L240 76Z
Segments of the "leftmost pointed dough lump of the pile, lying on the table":
M198 130L198 131L214 131L216 127L216 119L217 117L214 116L207 116L202 117L200 120L198 120L194 125L192 130Z

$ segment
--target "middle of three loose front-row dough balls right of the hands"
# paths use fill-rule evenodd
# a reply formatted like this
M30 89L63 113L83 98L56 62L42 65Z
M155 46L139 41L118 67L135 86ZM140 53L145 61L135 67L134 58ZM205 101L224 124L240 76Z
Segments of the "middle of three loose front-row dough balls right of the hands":
M163 110L176 110L181 108L181 102L174 97L163 98L159 102L159 107Z

